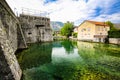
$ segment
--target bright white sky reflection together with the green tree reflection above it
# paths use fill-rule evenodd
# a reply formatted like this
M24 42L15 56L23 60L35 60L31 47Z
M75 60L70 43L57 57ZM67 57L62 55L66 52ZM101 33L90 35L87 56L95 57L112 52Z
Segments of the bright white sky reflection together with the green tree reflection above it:
M62 45L61 47L53 47L52 49L52 63L75 63L80 62L81 57L78 54L78 49L74 47L74 42L66 40L58 42L57 44ZM62 65L61 64L61 65Z

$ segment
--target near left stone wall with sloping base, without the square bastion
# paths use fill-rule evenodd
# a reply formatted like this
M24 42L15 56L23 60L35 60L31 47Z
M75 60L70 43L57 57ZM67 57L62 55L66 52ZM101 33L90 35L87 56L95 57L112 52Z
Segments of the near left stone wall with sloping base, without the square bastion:
M26 48L18 18L5 0L0 0L0 80L20 80L22 71L15 52Z

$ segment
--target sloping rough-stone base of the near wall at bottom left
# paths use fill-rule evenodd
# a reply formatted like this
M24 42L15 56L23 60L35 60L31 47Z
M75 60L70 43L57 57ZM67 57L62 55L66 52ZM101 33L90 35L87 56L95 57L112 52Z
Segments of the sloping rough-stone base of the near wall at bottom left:
M15 48L8 40L0 20L0 80L20 80L21 69L15 56Z

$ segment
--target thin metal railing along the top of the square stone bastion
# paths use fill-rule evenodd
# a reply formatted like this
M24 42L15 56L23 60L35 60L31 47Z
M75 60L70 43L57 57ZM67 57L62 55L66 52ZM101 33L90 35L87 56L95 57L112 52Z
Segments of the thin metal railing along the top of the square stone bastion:
M39 10L29 9L29 8L22 8L22 14L49 17L49 14L46 11L39 11Z

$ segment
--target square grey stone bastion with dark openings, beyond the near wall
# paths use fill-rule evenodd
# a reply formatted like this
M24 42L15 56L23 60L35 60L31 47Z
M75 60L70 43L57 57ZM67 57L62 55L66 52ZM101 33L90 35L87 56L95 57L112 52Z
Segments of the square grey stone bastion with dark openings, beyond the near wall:
M21 14L19 20L27 43L53 40L49 18Z

